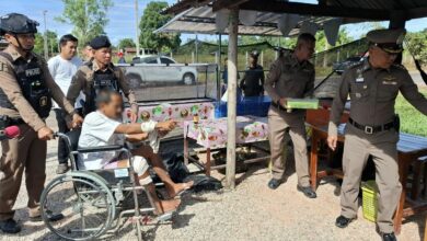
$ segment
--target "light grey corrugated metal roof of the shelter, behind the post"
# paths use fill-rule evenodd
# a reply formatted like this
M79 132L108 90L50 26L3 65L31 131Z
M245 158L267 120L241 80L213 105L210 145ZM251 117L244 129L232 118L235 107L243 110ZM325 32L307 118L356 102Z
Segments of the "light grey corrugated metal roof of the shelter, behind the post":
M269 13L269 12L258 12L256 18L256 23L252 26L246 26L239 24L239 34L240 35L264 35L264 36L282 36L280 31L277 27L277 22L282 14L279 13ZM303 22L316 23L319 30L322 30L324 22L327 22L334 18L331 16L302 16L297 26L289 33L290 36L297 35L299 28ZM212 12L212 8L209 5L191 8L184 12L175 15L171 21L161 26L155 33L198 33L198 34L217 34L216 28L216 13ZM360 22L355 19L343 19L343 24ZM228 28L226 27L224 33L228 34Z

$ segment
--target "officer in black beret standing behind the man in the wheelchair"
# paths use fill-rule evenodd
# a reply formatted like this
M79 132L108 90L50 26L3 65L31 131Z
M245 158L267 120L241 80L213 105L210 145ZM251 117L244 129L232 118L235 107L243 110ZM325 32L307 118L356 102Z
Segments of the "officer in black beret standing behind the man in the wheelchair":
M95 97L101 89L113 89L123 92L131 106L131 119L136 122L138 104L134 91L129 88L120 68L112 62L112 44L106 36L97 36L90 42L93 58L85 62L72 78L67 99L74 104L82 91L85 95L83 115L96 110Z

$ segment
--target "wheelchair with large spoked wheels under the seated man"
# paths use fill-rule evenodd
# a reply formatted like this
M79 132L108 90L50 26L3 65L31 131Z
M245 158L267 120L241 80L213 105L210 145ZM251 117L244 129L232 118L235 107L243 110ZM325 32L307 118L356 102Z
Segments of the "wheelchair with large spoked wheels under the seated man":
M65 240L93 240L107 232L117 234L124 226L123 220L127 218L131 221L138 240L142 240L141 226L155 208L148 191L137 185L129 149L123 146L82 149L77 148L80 133L57 133L55 136L67 142L71 171L51 180L42 193L41 211L47 228ZM78 154L103 151L127 154L129 167L91 171L78 169ZM149 207L140 206L138 190L146 192ZM134 198L134 207L126 209L123 204L130 197ZM61 214L64 219L50 221L49 214ZM171 214L163 215L158 217L158 221L165 221L171 217Z

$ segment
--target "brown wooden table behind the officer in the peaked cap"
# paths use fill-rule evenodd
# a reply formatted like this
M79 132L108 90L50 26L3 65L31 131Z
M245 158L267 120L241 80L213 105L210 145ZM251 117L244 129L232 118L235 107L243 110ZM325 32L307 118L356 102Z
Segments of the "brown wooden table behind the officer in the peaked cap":
M310 158L310 180L313 190L316 190L318 181L327 175L343 176L343 171L337 169L328 169L318 171L318 149L319 142L327 138L327 126L309 125L312 127L312 146ZM338 141L344 142L344 125L338 128ZM394 215L394 230L396 233L401 232L402 219L414 214L427 210L427 203L413 200L406 196L406 182L408 175L408 168L413 161L419 157L427 156L427 138L414 136L409 134L400 134L397 142L399 152L399 174L402 183L402 194L399 202L396 213Z

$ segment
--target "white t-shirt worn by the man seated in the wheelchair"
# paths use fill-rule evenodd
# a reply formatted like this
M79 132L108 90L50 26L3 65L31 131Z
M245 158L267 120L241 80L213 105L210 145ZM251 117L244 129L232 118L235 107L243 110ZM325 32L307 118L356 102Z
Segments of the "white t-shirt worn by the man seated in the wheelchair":
M85 116L79 138L80 148L100 147L108 145L124 145L125 135L114 131L122 123L112 119L101 112L92 112ZM84 153L79 157L79 169L99 170L118 157L116 151Z

